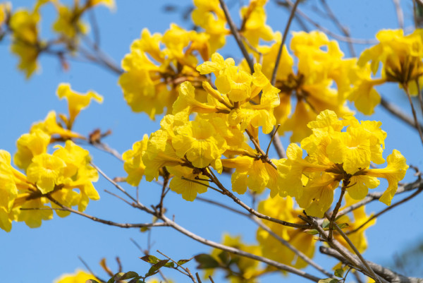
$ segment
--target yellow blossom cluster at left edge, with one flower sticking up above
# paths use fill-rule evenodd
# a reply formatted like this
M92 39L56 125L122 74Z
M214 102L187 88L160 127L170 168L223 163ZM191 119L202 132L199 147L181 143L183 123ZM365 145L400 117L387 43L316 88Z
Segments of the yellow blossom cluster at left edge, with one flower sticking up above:
M13 162L24 173L12 167L6 150L0 150L0 228L6 231L11 230L13 221L39 227L42 220L53 217L51 208L60 208L59 204L84 211L90 199L99 199L92 185L98 173L90 165L90 154L71 140L84 137L71 128L79 112L92 99L101 102L102 97L95 92L82 95L68 84L59 85L57 95L68 100L69 116L60 114L58 121L56 112L49 112L44 121L32 125L30 133L20 136ZM56 141L66 143L47 153L47 147ZM56 210L56 214L66 217L70 212Z

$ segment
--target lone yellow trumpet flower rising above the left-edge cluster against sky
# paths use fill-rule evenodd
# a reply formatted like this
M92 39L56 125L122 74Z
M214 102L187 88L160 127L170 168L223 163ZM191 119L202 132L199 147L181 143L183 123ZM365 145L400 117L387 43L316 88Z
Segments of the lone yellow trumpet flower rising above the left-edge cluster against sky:
M60 99L66 98L68 100L68 110L69 110L69 121L68 128L72 128L73 122L75 121L76 116L82 109L85 109L90 105L91 100L95 100L99 103L103 102L103 97L98 95L96 92L90 90L85 94L81 94L71 90L71 85L68 83L61 83L57 88L57 96Z

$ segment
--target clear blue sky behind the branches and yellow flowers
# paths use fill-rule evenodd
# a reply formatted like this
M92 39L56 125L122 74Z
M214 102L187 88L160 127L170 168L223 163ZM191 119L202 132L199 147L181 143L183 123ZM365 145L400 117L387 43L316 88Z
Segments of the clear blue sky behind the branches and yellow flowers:
M19 6L32 6L34 1L12 1L15 8ZM235 1L236 2L236 1ZM247 3L247 1L243 1ZM343 23L348 25L353 37L374 38L377 30L381 28L398 28L396 13L391 1L328 1L333 11ZM411 1L403 1L406 25L411 22ZM118 64L123 56L128 53L130 43L140 36L142 28L149 28L151 32L164 32L170 23L179 23L188 27L176 13L164 13L165 4L178 3L180 6L190 4L190 1L145 1L125 0L117 1L117 11L110 13L104 7L97 8L95 13L101 30L101 46ZM336 30L329 21L316 16L312 12L312 4L300 8L310 16L317 18L319 23L329 29ZM232 9L235 15L238 4ZM268 5L268 23L274 30L281 30L286 24L287 14L274 4ZM43 23L42 35L51 35L49 23L54 20L53 9L46 7L42 10ZM291 30L300 30L294 23ZM357 45L357 52L365 46ZM341 49L348 56L348 49L341 44ZM240 59L241 54L231 42L223 54L231 54L235 59ZM103 131L111 129L113 135L104 140L118 152L124 152L132 144L142 139L144 133L152 133L159 128L158 121L150 121L146 114L135 114L125 104L121 89L117 85L116 74L106 71L98 66L76 61L70 61L71 68L64 72L55 58L42 56L39 60L42 71L35 74L30 80L25 80L23 73L16 70L17 59L8 50L6 42L0 43L0 148L13 154L16 152L16 140L20 135L29 131L32 123L44 119L50 110L66 113L66 102L56 98L56 88L61 82L71 83L74 90L86 92L95 90L104 96L104 103L93 103L83 111L75 124L75 131L87 135L94 128ZM386 99L409 111L405 95L398 90L396 85L381 88L381 93ZM369 119L357 115L358 119ZM422 145L418 136L409 126L396 119L392 119L381 107L376 108L374 120L383 122L382 128L388 133L384 157L392 152L393 148L400 150L407 158L409 164L423 167ZM266 137L264 137L266 138ZM283 144L288 145L288 140L283 139ZM125 176L121 162L110 155L89 148L93 155L93 162L102 168L109 176ZM275 153L273 153L276 155ZM407 174L406 181L412 180L412 174ZM150 222L151 217L120 200L104 193L104 189L114 191L110 183L100 179L96 184L97 191L102 199L91 202L86 212L90 215L111 219L116 222ZM130 186L125 186L128 191L134 191ZM116 192L116 191L114 191ZM142 202L156 203L159 200L160 187L154 183L143 181L140 185ZM221 200L221 196L214 191L205 194L207 198ZM415 223L421 219L421 196L407 205L396 208L388 215L378 219L376 226L367 230L369 241L368 251L364 254L369 260L378 263L389 263L391 255L421 239L423 227ZM394 198L398 200L399 198ZM223 200L231 204L227 200ZM168 216L176 215L176 222L194 231L200 236L206 236L212 241L220 241L222 232L230 234L243 234L247 243L255 241L255 225L248 219L242 219L231 212L221 210L212 205L195 201L188 203L180 195L170 193L166 199L170 212ZM381 203L374 203L367 208L367 212L377 212L384 208ZM412 228L410 228L412 227ZM116 256L121 257L125 270L134 270L140 273L147 272L149 265L139 260L142 253L133 245L130 238L135 239L142 248L147 248L147 234L142 234L136 229L119 229L98 224L78 215L59 218L43 222L42 227L30 229L24 223L13 223L10 233L0 230L0 243L2 243L0 256L0 272L4 282L53 282L53 280L66 272L73 272L77 267L83 267L78 255L81 256L103 278L98 265L101 258L106 258L112 269L116 269ZM152 231L152 253L155 250L175 258L190 258L192 255L210 251L208 246L188 239L169 228L158 227ZM317 254L317 261L331 266L333 260ZM195 264L189 265L195 270ZM314 272L314 274L316 274ZM178 279L178 282L188 282L188 278L180 277L176 272L168 272L168 277ZM216 282L224 282L217 277ZM266 278L272 282L276 277ZM283 278L283 277L277 277ZM305 279L290 276L286 282L295 279L295 282L306 282ZM265 281L265 280L263 280Z

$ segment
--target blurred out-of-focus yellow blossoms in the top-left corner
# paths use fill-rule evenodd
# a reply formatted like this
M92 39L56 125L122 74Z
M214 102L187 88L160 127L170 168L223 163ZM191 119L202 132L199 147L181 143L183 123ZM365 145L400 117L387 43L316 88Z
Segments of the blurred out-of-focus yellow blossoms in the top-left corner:
M52 30L58 36L54 40L43 40L39 37L41 9L51 4L57 11L57 18ZM113 9L114 0L73 1L73 5L61 3L59 0L37 0L32 10L18 9L12 11L9 2L0 3L0 35L11 33L11 52L19 57L18 68L30 78L39 69L37 59L43 52L58 54L63 68L67 68L63 55L73 55L78 50L80 37L87 35L89 25L82 20L85 12L98 5Z

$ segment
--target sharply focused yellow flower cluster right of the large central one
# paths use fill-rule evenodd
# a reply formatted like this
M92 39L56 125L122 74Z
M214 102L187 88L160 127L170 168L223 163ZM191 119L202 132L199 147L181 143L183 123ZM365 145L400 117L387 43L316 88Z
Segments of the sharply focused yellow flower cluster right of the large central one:
M379 200L390 205L398 181L408 168L403 155L393 150L386 158L386 168L369 169L370 162L385 162L382 151L386 133L380 128L381 122L360 123L353 116L344 118L339 120L329 110L321 112L307 125L313 133L301 141L302 148L291 143L286 152L288 159L278 166L279 182L283 183L280 195L295 197L309 215L323 217L341 181L351 198L361 200L368 188L379 186L378 178L384 178L388 188ZM348 128L342 131L345 126ZM305 158L302 149L307 151Z

